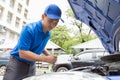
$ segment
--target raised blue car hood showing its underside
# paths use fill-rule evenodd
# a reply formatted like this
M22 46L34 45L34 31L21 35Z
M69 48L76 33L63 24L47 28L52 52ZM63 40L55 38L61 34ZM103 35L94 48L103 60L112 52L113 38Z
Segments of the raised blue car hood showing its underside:
M120 0L68 0L76 19L97 34L109 53L119 52Z

